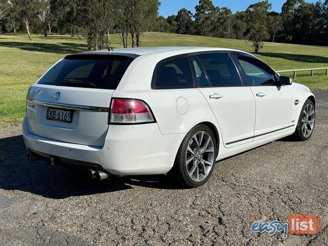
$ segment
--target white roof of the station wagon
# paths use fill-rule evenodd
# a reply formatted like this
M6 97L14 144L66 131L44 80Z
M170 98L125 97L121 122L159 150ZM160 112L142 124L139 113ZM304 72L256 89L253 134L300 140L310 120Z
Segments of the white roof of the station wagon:
M238 51L239 50L229 49L229 48L211 48L211 47L139 47L139 48L125 48L125 49L115 49L115 50L97 50L97 51L88 51L79 54L103 54L103 55L125 55L129 57L138 57L146 54L154 54L154 53L194 53L194 52L203 52L203 51Z

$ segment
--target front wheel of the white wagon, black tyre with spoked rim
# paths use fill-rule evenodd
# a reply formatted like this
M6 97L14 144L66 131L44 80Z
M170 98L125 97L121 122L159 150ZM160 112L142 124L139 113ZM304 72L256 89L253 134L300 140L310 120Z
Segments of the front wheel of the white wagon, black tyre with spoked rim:
M297 140L305 141L312 136L315 125L315 118L315 106L311 100L307 99L301 110L297 122L297 127L294 133Z

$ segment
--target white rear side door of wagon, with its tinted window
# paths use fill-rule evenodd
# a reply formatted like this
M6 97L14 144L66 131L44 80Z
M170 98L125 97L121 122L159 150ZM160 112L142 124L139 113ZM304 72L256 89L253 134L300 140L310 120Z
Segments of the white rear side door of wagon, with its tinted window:
M208 101L227 148L252 141L255 125L255 99L243 86L228 52L199 53L190 56L197 88Z

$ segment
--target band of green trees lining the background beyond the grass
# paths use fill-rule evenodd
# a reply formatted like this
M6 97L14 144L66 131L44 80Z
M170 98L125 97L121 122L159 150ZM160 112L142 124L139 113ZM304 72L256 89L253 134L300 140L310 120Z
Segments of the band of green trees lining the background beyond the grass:
M158 16L159 5L158 0L0 0L0 32L83 34L90 49L99 49L110 43L112 32L120 33L126 47L131 38L134 47L146 31L247 39L258 24L273 42L328 45L328 0L286 0L281 14L270 12L268 0L237 13L199 0L194 14L182 8L166 19Z

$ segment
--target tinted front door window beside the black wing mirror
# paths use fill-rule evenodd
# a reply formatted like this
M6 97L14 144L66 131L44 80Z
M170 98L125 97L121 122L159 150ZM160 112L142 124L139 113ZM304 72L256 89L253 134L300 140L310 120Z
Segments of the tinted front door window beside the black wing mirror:
M238 57L240 66L245 73L249 86L275 86L274 72L268 66L252 57Z

